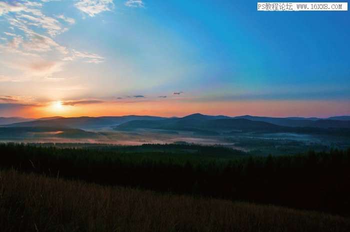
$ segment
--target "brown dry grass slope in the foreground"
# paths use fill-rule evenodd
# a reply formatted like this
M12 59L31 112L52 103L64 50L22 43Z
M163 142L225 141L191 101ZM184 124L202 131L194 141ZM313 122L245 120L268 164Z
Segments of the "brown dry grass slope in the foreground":
M350 220L2 170L0 231L345 232Z

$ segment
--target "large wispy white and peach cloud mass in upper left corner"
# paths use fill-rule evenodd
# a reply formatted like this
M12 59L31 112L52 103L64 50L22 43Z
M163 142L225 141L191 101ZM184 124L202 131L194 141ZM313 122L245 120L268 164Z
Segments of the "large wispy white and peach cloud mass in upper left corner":
M21 75L27 77L50 77L54 72L61 71L66 62L73 60L96 64L103 62L104 58L95 53L77 51L55 41L54 37L68 30L66 26L75 23L75 20L63 14L45 15L41 9L46 1L0 2L0 16L11 29L10 32L5 31L4 39L1 39L0 53L6 59L0 62L23 71Z

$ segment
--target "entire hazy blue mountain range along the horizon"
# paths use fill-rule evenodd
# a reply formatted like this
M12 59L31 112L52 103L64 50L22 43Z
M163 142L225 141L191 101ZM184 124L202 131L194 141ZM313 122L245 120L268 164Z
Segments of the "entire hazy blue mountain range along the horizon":
M40 119L0 118L1 127L42 127L76 128L81 130L156 129L170 131L191 131L197 134L217 135L235 132L309 132L324 131L329 128L350 128L350 116L319 118L273 118L257 116L229 117L191 114L182 118L163 118L155 116L110 116L110 117L49 117ZM312 129L313 128L313 129ZM317 128L317 129L315 129ZM1 131L0 131L1 133Z

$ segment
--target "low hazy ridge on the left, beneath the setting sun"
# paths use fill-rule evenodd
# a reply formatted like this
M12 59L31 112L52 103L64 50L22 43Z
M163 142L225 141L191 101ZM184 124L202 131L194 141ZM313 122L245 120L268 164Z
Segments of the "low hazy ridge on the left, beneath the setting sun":
M116 126L132 120L161 120L164 118L155 116L116 116L116 117L75 117L75 118L54 118L44 120L34 120L29 122L19 122L3 127L59 127L59 128L78 128L78 129L100 129L104 127Z

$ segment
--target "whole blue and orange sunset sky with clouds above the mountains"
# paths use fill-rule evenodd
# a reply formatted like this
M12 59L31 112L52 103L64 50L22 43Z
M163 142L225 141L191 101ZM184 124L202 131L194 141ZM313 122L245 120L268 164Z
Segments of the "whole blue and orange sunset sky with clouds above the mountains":
M0 0L0 116L350 115L349 11Z

